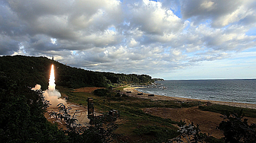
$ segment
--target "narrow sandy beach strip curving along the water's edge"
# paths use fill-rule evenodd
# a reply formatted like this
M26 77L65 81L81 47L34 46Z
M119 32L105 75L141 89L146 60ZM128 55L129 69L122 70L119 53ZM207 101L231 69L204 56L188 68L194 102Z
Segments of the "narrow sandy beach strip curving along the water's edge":
M256 104L251 104L251 103L234 103L234 102L215 101L215 100L198 100L198 99L190 99L190 98L183 98L183 97L167 97L164 95L156 95L156 94L154 94L154 97L148 97L149 94L137 91L136 88L141 88L141 87L125 87L124 94L128 94L128 96L131 96L131 97L138 97L138 98L151 99L151 100L177 100L180 102L198 101L198 102L215 103L215 104L228 105L228 106L237 106L241 108L256 109ZM131 93L127 93L130 91ZM138 94L142 94L142 95L138 95Z

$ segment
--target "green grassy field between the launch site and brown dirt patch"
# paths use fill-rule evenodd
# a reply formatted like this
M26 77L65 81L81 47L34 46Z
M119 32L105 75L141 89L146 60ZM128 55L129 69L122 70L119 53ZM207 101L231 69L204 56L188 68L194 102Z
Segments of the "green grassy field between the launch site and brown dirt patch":
M156 135L153 135L151 140L148 141L144 138L144 141L154 142L162 138L167 139L166 134L163 131L168 131L170 137L177 136L177 127L173 124L177 122L172 121L171 119L163 119L158 116L152 116L150 114L144 113L141 109L147 107L183 107L180 103L175 103L173 101L152 101L147 99L140 99L134 97L96 97L90 93L83 92L73 92L73 89L58 87L58 90L61 94L69 97L69 102L78 103L83 106L87 106L87 98L92 97L94 107L98 113L107 113L109 110L118 110L120 113L120 120L122 122L118 123L117 132L131 138L144 138L147 137L147 134L137 135L136 129L141 129L142 127L151 128L154 130ZM116 89L115 89L116 90ZM122 90L122 89L118 89ZM164 135L160 137L160 135ZM141 137L144 136L144 137ZM160 139L160 140L162 140Z

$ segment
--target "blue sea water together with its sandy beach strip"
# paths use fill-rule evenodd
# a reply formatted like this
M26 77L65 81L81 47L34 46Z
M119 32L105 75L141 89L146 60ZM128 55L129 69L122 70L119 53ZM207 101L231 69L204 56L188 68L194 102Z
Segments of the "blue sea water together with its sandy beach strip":
M173 82L178 83L178 85L175 87ZM183 84L184 82L188 83ZM207 82L215 86L210 87L206 84ZM256 109L256 87L254 87L256 80L156 81L156 83L160 84L158 86L166 87L167 89L163 90L162 88L156 87L127 87L124 91L131 91L130 96L149 98L151 100L202 101ZM191 86L189 87L189 85ZM180 91L177 86L181 86ZM199 94L197 93L198 96L196 96L196 90L192 89L192 87L196 87L196 90L200 91ZM225 89L228 91L225 91ZM183 92L185 94L182 94ZM189 92L194 94L194 96L188 94ZM138 95L138 93L143 93L143 95ZM154 97L148 97L148 94L154 94Z

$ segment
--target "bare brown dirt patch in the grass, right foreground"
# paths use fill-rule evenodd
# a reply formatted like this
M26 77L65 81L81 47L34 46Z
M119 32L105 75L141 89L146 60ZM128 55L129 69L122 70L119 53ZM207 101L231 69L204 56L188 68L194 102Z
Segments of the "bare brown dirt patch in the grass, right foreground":
M145 113L149 113L154 116L160 116L165 119L171 119L173 121L180 122L180 120L186 121L186 123L193 122L195 125L199 124L201 132L210 134L215 138L222 138L223 133L216 129L219 123L222 122L221 114L212 113L208 111L199 110L197 106L191 108L145 108Z

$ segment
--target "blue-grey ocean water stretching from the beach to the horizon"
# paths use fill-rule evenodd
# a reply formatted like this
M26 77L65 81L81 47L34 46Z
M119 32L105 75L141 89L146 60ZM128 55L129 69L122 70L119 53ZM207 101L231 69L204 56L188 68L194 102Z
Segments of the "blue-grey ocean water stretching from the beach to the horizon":
M256 79L166 80L156 83L157 87L137 90L168 97L256 104Z

